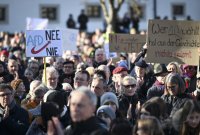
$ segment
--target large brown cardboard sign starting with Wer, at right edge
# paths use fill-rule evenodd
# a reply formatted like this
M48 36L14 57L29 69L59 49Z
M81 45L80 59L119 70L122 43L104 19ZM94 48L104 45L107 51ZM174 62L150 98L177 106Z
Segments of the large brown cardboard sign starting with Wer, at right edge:
M200 22L149 20L147 62L199 64Z

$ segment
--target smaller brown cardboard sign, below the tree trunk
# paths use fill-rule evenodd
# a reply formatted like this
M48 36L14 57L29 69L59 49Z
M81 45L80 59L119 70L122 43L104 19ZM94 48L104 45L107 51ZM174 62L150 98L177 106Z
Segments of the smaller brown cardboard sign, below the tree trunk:
M140 52L146 43L145 35L110 34L110 52Z

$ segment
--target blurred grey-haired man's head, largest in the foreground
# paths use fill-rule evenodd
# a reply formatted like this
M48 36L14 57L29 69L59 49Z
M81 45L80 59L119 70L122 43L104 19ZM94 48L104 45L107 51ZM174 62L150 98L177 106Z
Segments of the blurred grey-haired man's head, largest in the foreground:
M82 86L71 92L69 104L72 121L81 122L94 116L97 97L88 87Z

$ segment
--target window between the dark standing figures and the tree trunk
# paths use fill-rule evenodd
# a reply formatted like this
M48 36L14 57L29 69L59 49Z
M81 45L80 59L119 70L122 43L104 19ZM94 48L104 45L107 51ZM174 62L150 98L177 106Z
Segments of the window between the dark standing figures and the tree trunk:
M100 5L87 5L86 7L87 16L90 18L101 17L101 6Z

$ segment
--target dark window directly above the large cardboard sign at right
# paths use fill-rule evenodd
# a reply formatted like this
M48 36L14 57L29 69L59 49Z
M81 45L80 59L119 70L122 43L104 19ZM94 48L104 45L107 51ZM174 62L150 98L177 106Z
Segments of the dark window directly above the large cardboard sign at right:
M173 4L172 16L185 16L185 4Z

